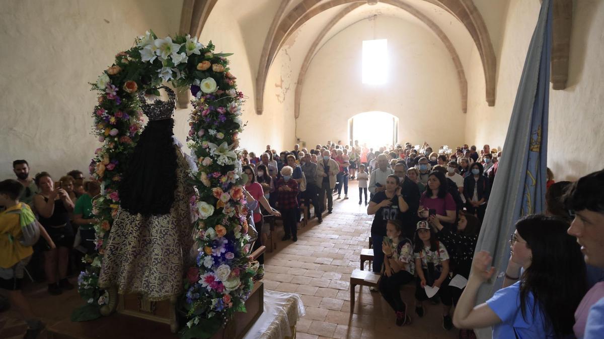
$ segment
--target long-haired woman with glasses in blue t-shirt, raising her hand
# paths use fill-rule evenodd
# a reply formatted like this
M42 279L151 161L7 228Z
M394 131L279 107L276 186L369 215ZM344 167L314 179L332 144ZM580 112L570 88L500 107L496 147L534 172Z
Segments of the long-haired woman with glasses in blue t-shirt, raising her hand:
M579 244L567 229L564 221L545 215L518 220L503 288L474 306L478 289L496 272L489 253L477 253L453 315L455 326L492 326L493 339L573 337L574 311L586 278Z

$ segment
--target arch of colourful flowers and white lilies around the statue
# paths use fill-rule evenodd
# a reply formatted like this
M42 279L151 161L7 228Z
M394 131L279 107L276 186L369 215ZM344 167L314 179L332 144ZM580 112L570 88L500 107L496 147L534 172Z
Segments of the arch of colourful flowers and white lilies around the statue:
M181 311L187 326L181 335L210 336L234 312L245 311L254 272L248 258L251 243L241 186L245 180L235 152L244 127L243 93L229 72L229 55L214 53L211 42L204 46L196 37L158 39L147 31L132 48L115 55L113 65L91 84L99 94L93 133L103 144L89 170L103 190L93 211L98 219L97 253L86 256L89 265L79 277L79 292L89 309L107 303L97 282L120 205L118 183L143 128L138 93L159 95L156 88L170 82L193 94L187 142L199 168L191 173L197 194L190 200L199 255L184 279Z

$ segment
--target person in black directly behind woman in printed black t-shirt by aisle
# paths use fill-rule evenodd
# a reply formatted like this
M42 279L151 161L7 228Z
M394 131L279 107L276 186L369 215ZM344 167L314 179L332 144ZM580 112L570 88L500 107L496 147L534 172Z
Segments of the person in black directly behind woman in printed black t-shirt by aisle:
M409 209L402 212L399 220L402 221L403 236L408 239L413 239L415 227L417 224L417 209L419 208L419 187L411 181L407 176L407 165L404 160L394 165L394 175L399 178L400 196L405 200Z

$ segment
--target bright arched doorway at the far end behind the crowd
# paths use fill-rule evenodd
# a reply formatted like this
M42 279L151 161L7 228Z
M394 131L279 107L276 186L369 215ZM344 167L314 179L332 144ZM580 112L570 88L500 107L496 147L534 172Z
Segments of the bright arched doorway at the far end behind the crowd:
M370 111L359 113L348 120L348 135L351 145L355 140L369 148L395 145L399 139L399 118L387 112Z

